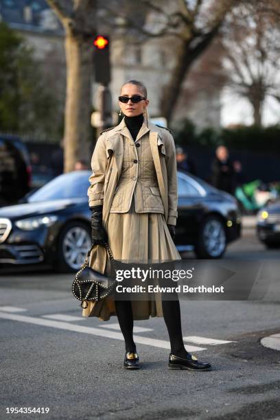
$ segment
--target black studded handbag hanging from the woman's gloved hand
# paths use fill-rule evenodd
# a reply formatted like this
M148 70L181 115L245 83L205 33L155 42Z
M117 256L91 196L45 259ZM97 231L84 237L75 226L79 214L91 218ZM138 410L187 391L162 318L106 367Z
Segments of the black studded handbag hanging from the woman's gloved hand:
M108 294L115 290L117 280L114 277L108 277L93 268L89 267L89 255L93 249L94 244L87 253L86 260L82 264L80 270L75 275L75 280L72 284L72 292L76 299L82 301L80 306L83 309L88 307L87 301L102 301ZM113 259L112 251L108 244L104 244L106 247L110 261L114 266L115 260ZM86 304L86 306L84 305Z

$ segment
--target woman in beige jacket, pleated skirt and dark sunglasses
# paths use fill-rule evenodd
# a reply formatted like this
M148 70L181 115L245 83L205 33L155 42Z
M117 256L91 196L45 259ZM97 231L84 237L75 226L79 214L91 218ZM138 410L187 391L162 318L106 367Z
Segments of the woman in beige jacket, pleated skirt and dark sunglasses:
M137 80L121 86L119 106L124 119L104 130L91 159L93 173L88 196L92 211L93 247L89 264L108 272L110 259L121 261L174 261L180 254L174 244L177 218L176 150L170 130L148 121L147 90ZM183 343L180 303L155 299L121 301L115 295L99 302L88 301L82 316L109 320L117 316L124 335L124 367L139 369L133 340L133 320L163 316L170 336L170 369L205 371L211 364L198 362Z

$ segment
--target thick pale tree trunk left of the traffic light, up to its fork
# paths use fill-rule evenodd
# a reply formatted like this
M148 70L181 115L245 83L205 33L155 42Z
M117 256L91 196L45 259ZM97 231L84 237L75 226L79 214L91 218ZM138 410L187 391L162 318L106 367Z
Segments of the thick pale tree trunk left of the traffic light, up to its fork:
M65 27L67 86L65 101L65 172L91 159L91 41L96 34L96 0L47 0Z

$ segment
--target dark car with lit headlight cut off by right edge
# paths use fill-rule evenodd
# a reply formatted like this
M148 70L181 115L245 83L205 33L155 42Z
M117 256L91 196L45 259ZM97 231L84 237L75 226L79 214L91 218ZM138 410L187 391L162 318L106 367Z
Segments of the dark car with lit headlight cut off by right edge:
M280 248L280 200L257 213L257 237L267 248Z

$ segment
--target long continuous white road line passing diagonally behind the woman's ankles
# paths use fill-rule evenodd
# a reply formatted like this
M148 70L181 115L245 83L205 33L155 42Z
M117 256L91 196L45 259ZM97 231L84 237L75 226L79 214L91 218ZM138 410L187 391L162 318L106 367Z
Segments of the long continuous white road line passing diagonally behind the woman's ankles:
M35 318L34 316L24 316L16 314L5 314L5 312L0 312L0 318L8 320L16 320L21 323L30 323L35 325L42 325L44 327L52 327L58 329L65 329L67 331L75 331L82 334L92 334L93 336L101 336L105 338L113 338L115 340L124 341L124 337L121 333L116 331L107 331L103 328L93 328L93 327L84 327L83 325L69 324L62 321ZM156 338L146 338L141 336L134 336L134 341L137 344L143 344L153 347L159 347L161 349L170 350L170 342L165 340L157 340ZM203 347L195 346L185 346L187 351L202 351L206 350Z

